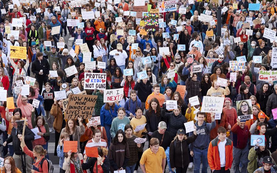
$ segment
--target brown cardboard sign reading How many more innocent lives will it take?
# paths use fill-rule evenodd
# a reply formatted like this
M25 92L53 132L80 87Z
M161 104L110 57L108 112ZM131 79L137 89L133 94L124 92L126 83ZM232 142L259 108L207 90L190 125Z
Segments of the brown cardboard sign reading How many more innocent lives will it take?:
M56 94L55 94L56 96ZM68 105L65 111L65 119L89 119L92 117L97 96L72 94L68 98Z

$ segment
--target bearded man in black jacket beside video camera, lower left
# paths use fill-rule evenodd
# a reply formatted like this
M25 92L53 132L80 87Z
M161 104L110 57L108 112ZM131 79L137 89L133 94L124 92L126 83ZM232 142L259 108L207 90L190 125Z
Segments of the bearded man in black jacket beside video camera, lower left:
M3 143L3 146L5 147L8 143L13 142L12 143L14 148L13 158L15 160L16 167L19 168L19 170L23 173L31 172L31 170L33 169L32 158L23 153L22 148L20 147L21 142L19 140L19 137L22 137L24 121L20 120L19 116L13 116L11 123L13 127L11 136L9 136L9 138L6 139L6 141ZM35 134L25 125L24 141L28 149L31 151L33 151L32 140L34 139L35 139ZM24 160L23 160L23 156L24 156Z

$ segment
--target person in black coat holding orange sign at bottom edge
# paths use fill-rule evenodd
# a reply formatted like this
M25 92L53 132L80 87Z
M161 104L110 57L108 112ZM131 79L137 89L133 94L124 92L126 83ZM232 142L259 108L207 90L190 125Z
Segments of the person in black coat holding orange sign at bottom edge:
M95 162L97 162L97 165L100 165L104 173L110 172L110 161L105 156L108 155L108 150L105 147L97 147L98 155L99 157L89 157L85 154L84 156L84 162L82 163L82 169L87 170L89 169L90 172L93 172L93 169L95 167ZM97 168L96 168L97 170ZM97 171L96 171L97 172ZM98 171L100 172L100 171Z

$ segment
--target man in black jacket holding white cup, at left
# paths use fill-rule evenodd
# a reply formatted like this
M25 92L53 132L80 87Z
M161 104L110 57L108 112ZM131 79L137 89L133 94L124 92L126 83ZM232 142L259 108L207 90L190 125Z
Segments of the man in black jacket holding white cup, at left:
M39 83L39 89L42 91L42 84L47 83L50 65L47 59L43 58L43 54L38 52L36 60L32 64L32 72L36 74L37 82Z

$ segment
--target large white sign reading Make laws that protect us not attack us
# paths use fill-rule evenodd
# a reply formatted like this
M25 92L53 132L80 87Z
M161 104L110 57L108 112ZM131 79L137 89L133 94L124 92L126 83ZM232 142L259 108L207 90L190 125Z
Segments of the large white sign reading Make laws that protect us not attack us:
M222 113L223 103L224 103L224 97L204 96L201 112Z

